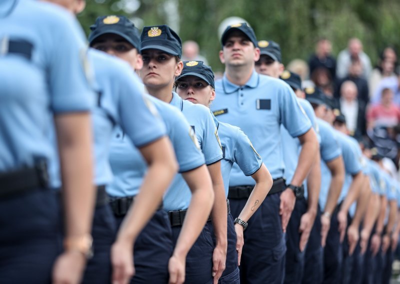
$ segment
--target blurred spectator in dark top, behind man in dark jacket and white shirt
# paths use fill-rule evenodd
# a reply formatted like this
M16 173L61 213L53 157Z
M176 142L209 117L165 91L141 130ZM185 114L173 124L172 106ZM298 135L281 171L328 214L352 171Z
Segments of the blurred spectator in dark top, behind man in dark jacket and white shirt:
M366 79L361 77L362 74L362 62L358 57L352 57L350 60L350 65L348 66L348 74L342 78L338 79L335 87L335 97L340 97L341 84L344 81L352 81L357 86L358 100L361 100L366 105L369 101L368 96L368 82Z

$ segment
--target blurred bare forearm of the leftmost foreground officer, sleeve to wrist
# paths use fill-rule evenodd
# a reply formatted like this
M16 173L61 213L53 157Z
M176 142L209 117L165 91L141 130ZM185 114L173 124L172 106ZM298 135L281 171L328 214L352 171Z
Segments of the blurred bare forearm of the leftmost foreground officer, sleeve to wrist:
M60 158L65 236L90 233L95 188L88 114L55 117Z

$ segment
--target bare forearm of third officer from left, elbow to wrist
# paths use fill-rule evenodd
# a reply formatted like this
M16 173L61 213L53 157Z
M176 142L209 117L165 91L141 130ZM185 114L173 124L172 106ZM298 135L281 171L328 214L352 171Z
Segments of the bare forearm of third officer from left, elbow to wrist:
M214 201L211 180L209 184L203 182L199 187L190 190L192 191L190 204L173 250L173 254L184 257L204 228Z

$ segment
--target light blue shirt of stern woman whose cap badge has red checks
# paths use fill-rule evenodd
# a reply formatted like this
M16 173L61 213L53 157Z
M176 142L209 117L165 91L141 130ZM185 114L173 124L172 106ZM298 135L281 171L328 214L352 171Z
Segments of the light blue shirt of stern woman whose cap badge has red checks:
M222 148L218 132L209 109L204 105L183 100L172 92L171 105L182 112L193 128L197 142L204 154L205 164L209 165L222 159ZM164 209L182 210L189 206L191 192L181 174L177 174L164 196Z

